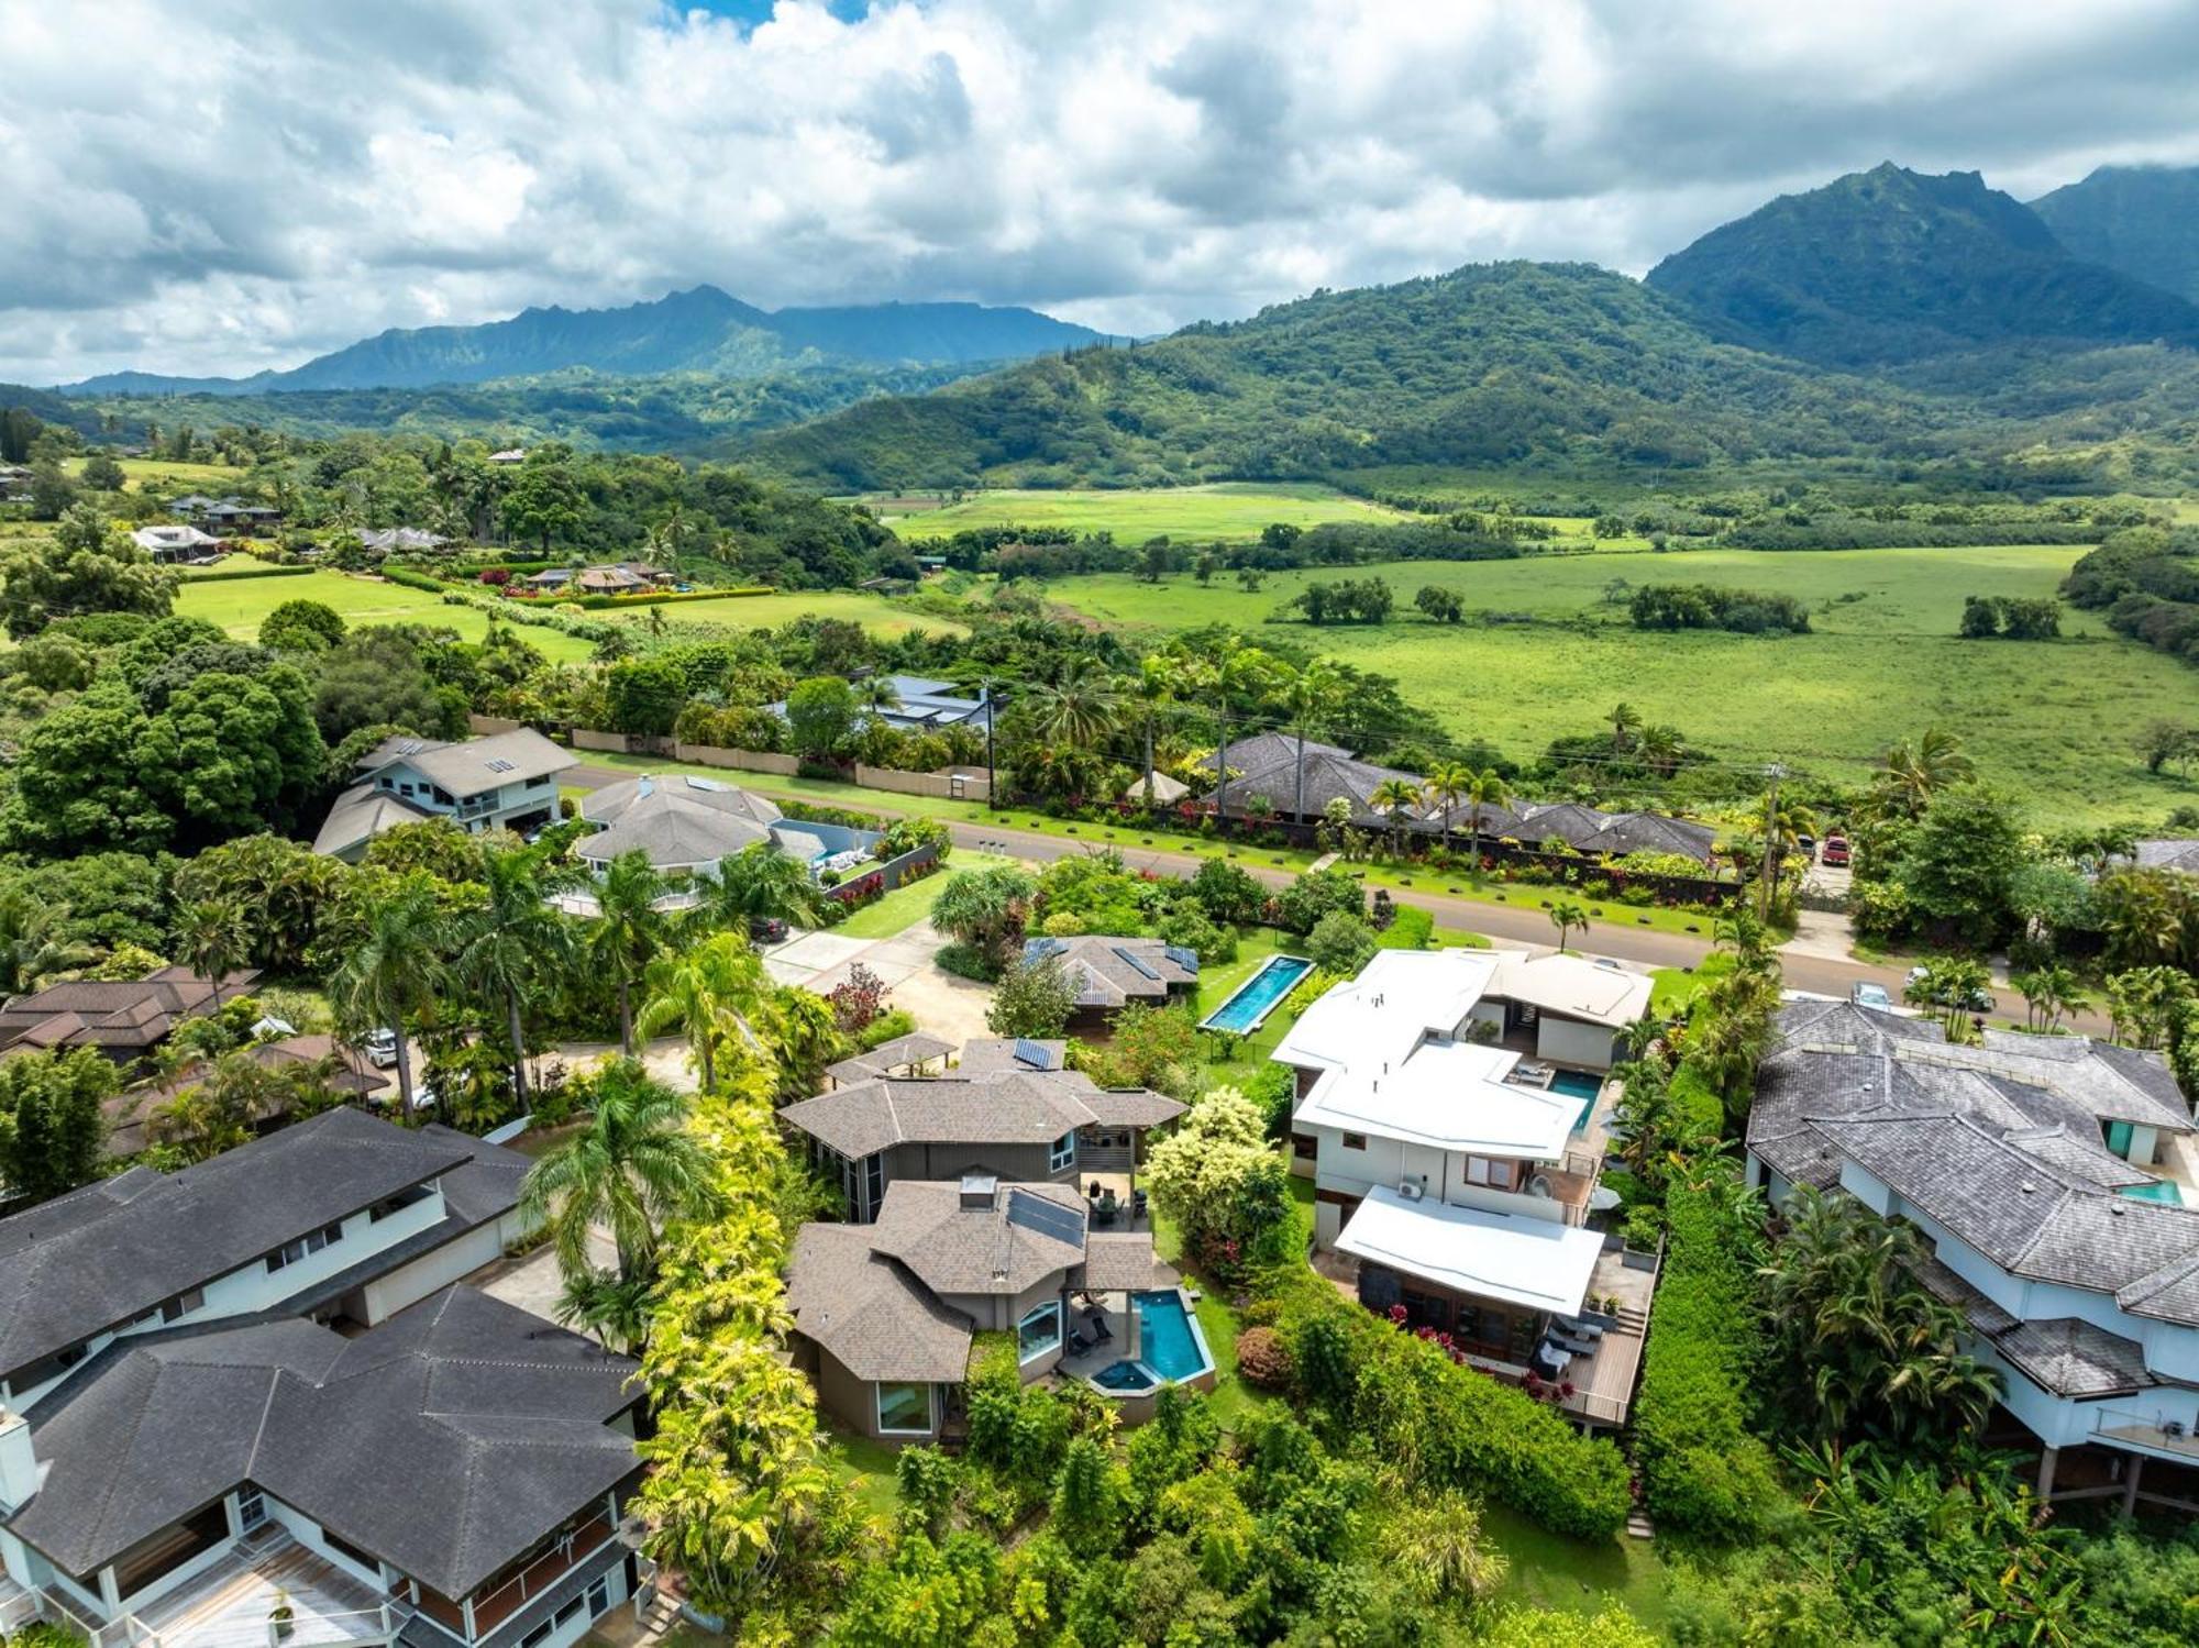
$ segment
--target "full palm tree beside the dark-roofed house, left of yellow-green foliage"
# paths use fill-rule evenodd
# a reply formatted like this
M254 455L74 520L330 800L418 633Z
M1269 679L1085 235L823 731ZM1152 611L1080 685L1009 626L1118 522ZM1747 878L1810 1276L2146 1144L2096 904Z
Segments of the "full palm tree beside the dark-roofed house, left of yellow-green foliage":
M519 1215L548 1226L567 1285L596 1274L592 1226L611 1233L618 1281L655 1274L658 1231L723 1209L710 1151L686 1129L686 1099L633 1059L605 1066L587 1127L545 1154L519 1182Z

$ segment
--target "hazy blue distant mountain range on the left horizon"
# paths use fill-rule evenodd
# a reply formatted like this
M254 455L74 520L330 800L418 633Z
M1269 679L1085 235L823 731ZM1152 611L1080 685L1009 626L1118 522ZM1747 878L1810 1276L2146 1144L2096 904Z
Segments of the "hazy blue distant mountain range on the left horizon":
M165 378L110 371L68 396L264 396L308 389L431 389L585 369L620 378L697 371L770 378L809 367L1020 360L1100 343L1091 327L979 303L759 310L715 286L620 310L523 310L484 325L391 330L288 371Z

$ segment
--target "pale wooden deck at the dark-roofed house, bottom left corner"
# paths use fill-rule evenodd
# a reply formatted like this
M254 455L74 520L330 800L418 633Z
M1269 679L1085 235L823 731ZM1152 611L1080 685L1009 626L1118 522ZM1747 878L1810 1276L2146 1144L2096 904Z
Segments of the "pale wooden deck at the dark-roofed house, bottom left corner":
M288 1597L292 1611L284 1648L380 1644L405 1624L398 1604L385 1611L374 1586L279 1529L237 1545L139 1617L161 1648L275 1648L268 1611L277 1597Z

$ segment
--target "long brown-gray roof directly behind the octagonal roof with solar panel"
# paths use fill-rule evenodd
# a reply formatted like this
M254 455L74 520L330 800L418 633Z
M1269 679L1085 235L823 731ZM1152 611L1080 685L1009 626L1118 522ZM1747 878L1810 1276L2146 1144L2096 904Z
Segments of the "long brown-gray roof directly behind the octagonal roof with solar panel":
M1161 1094L1132 1101L1104 1094L1080 1070L976 1070L946 1077L880 1077L803 1099L781 1121L842 1156L891 1145L1051 1145L1093 1123L1141 1125L1137 1114L1170 1121L1183 1105Z

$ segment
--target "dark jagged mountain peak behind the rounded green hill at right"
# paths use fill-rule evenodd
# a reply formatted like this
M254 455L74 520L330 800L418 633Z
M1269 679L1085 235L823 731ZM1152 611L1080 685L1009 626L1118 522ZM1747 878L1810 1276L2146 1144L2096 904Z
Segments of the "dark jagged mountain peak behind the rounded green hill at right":
M2199 338L2199 308L2074 257L1979 174L1891 160L1713 229L1647 283L1726 343L1832 367L2019 341Z

